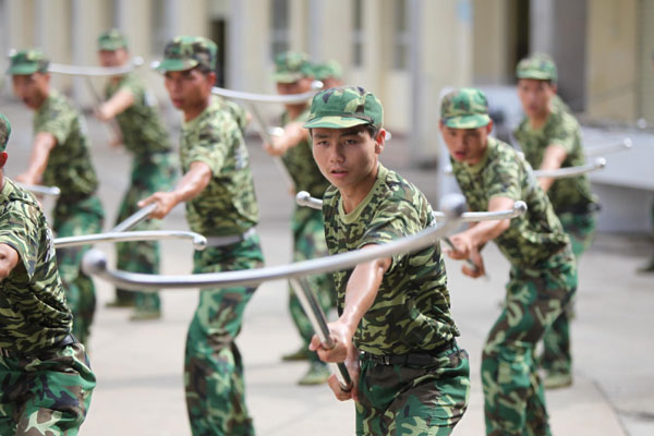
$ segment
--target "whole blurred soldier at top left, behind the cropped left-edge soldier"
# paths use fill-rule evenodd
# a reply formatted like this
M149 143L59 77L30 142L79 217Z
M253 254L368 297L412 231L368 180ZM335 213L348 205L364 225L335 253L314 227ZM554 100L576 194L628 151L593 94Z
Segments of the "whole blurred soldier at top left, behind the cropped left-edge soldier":
M8 74L14 94L35 111L35 138L27 171L16 181L59 186L61 195L53 213L57 237L98 233L105 213L96 195L98 179L90 161L86 124L73 105L50 89L49 61L39 50L22 50L11 57ZM88 250L58 251L59 274L73 313L73 332L87 344L95 313L93 280L82 271L82 257Z

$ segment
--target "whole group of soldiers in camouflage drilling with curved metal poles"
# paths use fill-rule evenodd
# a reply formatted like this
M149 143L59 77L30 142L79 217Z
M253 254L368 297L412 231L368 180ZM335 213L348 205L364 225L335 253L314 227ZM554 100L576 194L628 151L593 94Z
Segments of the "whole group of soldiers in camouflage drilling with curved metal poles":
M118 64L120 50L126 51L122 35L100 37L104 64ZM191 230L208 238L209 247L195 254L194 272L250 269L264 262L255 231L258 208L243 138L246 117L238 106L211 95L216 62L217 47L206 38L181 36L165 48L158 70L173 106L183 114L183 175L171 189L174 166L170 145L167 140L153 140L159 135L156 129L152 136L138 136L145 135L141 132L143 124L133 122L145 116L135 109L129 112L137 102L148 106L142 84L131 76L113 78L107 90L109 99L98 110L101 119L118 117L123 135L131 132L130 138L123 137L135 155L125 210L134 210L133 202L146 196L137 207L156 204L152 217L161 219L175 205L185 203ZM278 59L276 82L280 93L303 90L296 85L311 76L303 71L306 63L296 53ZM506 304L482 356L489 435L550 433L535 346L550 331L557 338L568 331L566 311L577 288L577 265L574 245L567 232L572 238L580 234L581 245L586 246L584 241L592 234L594 222L591 205L595 202L590 191L583 197L585 204L574 197L570 204L564 202L566 207L559 207L555 195L559 193L569 201L581 192L579 185L565 187L557 185L558 181L537 181L528 162L534 159L531 165L544 169L574 164L571 159L579 142L570 117L555 111L550 100L545 99L545 107L538 106L544 101L538 96L552 98L556 90L553 68L543 57L518 65L521 98L533 108L530 111L525 107L528 120L517 132L523 138L526 159L489 136L493 122L483 93L461 88L441 102L440 132L471 209L510 209L518 199L529 207L520 218L481 222L451 238L455 249L450 256L471 258L475 264L474 270L463 266L471 277L484 274L481 250L492 240L512 266ZM59 235L97 232L102 211L95 196L97 179L83 122L63 97L49 89L46 69L47 60L38 51L12 57L14 90L36 111L33 155L20 180L62 187L65 201L56 205L53 223ZM125 116L122 121L120 114ZM4 167L11 130L8 120L0 121L0 167ZM312 192L315 183L312 194L324 198L322 214L314 216L301 209L294 213L294 259L319 255L317 238L312 238L318 235L320 226L323 250L329 254L366 250L434 226L432 207L424 195L378 161L386 131L382 102L372 93L361 87L325 89L311 106L288 106L283 122L284 134L267 144L267 149L283 156L296 189ZM144 150L148 141L155 141L156 148ZM156 177L143 182L141 178L148 171ZM11 389L1 392L0 425L7 432L0 433L76 434L95 386L84 347L75 338L86 340L95 305L93 282L80 270L83 251L56 256L39 206L8 179L2 184L2 207L0 316L10 322L0 327L0 380ZM571 215L567 228L557 213L564 222L566 214ZM154 268L152 253L156 249L148 250L149 254L140 253L138 257L125 255L124 267ZM59 263L59 272L55 262ZM329 325L336 347L325 349L317 337L306 339L311 335L302 330L301 322L298 326L322 361L347 363L352 389L343 390L334 376L328 383L338 399L355 400L356 433L450 434L468 407L470 375L468 353L456 339L459 330L450 315L440 247L368 262L325 277L325 282L332 280L329 284L322 284L320 278L314 280L312 286L320 290L318 294L322 289L330 289L336 300L339 317ZM189 327L184 361L186 404L194 435L254 434L234 339L255 290L234 287L201 293ZM137 307L145 317L156 317L158 301L148 301L145 295L140 299ZM328 303L324 304L328 308ZM296 311L293 316L298 318ZM558 322L561 328L556 330ZM552 362L553 371L567 371L569 376L569 361L558 363L557 358ZM41 364L32 372L34 365ZM63 372L71 377L62 378Z

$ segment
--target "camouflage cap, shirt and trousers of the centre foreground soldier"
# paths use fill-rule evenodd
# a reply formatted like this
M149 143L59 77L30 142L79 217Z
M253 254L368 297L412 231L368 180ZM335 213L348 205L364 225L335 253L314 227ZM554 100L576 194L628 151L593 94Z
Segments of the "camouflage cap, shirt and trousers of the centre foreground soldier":
M379 100L350 87L314 97L305 128L379 128L382 123ZM373 187L353 210L346 214L339 190L330 186L323 214L332 255L385 244L434 225L424 195L382 165ZM339 314L351 274L334 274ZM363 352L355 403L358 435L449 435L461 420L468 407L470 367L468 353L455 339L459 330L450 316L446 283L438 245L392 256L352 338Z

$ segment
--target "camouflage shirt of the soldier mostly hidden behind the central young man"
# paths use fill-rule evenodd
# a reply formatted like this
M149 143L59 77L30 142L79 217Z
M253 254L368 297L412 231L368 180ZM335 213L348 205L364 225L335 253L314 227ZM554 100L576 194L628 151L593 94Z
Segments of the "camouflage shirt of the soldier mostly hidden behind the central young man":
M289 120L288 112L284 112L281 116L281 124L287 125L290 122L304 123L308 118L310 109L311 107L307 106L294 120ZM325 190L329 187L329 182L325 179L313 158L311 140L303 141L296 146L289 148L281 159L291 179L293 179L295 192L306 191L314 197L323 198Z

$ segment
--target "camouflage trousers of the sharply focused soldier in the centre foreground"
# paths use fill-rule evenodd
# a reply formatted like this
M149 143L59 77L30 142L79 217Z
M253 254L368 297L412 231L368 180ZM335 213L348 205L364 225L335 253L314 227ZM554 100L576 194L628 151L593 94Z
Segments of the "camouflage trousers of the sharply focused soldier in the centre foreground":
M468 353L455 346L422 367L363 358L359 393L356 435L449 435L468 408Z

